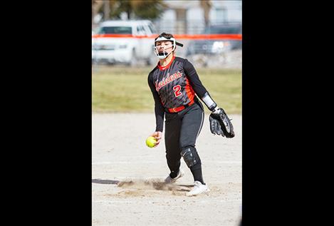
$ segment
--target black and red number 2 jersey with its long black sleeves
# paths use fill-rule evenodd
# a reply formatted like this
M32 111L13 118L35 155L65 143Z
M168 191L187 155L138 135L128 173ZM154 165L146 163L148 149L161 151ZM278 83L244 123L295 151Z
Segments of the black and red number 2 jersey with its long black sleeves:
M207 93L192 63L175 56L165 67L158 63L148 76L148 84L155 99L156 131L162 131L166 109L190 105L195 94L202 98Z

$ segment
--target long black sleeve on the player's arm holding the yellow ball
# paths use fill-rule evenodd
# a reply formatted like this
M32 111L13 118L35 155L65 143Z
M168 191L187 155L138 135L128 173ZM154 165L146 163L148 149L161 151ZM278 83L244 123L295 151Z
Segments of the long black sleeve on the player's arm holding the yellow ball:
M162 132L162 130L164 129L165 110L164 110L164 107L162 106L160 96L155 90L155 85L152 81L151 74L149 74L147 81L148 81L148 85L151 88L153 98L155 99L155 123L156 123L155 131Z

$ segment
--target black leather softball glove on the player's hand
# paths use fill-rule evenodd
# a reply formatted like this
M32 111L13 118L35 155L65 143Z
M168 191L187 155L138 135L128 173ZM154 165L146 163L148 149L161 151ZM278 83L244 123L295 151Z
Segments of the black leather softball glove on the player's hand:
M234 138L233 125L223 108L215 108L210 114L209 120L211 133L226 138Z

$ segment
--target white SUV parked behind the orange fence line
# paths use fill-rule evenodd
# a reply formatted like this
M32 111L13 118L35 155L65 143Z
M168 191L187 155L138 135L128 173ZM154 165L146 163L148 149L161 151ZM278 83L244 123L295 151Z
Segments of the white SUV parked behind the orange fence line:
M92 63L156 63L152 61L155 36L151 21L104 21L92 35Z

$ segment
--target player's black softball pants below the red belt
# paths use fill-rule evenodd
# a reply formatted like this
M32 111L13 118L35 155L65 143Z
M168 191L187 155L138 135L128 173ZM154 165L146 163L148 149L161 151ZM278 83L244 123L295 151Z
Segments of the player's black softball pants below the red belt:
M177 173L181 165L181 150L188 146L195 147L204 121L204 109L202 103L195 101L192 106L178 113L165 113L165 117L167 165L171 173ZM200 168L200 164L199 160L196 168ZM202 175L202 168L200 168L200 171Z

